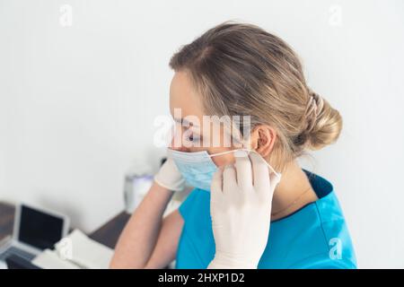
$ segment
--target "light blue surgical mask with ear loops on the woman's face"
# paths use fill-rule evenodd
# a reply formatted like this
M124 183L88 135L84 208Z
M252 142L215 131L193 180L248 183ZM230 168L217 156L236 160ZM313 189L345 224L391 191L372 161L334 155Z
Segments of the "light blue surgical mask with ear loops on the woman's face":
M209 154L206 151L179 152L171 149L168 151L169 156L175 162L178 170L180 170L180 173L187 184L191 187L198 187L207 191L210 190L212 178L217 170L217 166L215 165L215 162L212 161L212 157L240 151L244 151L243 154L245 156L245 152L253 152L247 149L238 149L213 154ZM237 156L237 154L235 156ZM262 159L262 161L265 160ZM280 178L280 174L277 173L277 171L275 171L267 161L265 162L267 163L268 168Z

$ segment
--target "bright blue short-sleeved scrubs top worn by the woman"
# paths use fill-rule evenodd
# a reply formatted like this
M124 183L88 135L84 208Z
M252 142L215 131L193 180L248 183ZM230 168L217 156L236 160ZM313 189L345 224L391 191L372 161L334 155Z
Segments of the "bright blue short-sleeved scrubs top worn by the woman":
M319 199L271 222L258 268L356 268L347 223L332 185L304 170ZM177 268L204 269L215 256L210 192L194 189L180 205L184 219Z

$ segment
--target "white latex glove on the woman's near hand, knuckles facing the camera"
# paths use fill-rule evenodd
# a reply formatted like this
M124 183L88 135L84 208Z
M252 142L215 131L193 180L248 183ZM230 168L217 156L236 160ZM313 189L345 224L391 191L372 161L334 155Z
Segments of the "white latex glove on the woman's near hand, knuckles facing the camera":
M256 152L236 156L211 186L215 258L207 268L257 268L268 243L272 196L280 178Z

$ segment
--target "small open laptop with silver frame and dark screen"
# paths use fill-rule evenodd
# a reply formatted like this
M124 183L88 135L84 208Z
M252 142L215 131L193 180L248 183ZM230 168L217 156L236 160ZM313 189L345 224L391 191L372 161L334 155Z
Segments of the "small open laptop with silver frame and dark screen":
M0 245L0 261L11 256L31 261L46 248L67 235L69 219L66 215L18 204L15 208L13 237Z

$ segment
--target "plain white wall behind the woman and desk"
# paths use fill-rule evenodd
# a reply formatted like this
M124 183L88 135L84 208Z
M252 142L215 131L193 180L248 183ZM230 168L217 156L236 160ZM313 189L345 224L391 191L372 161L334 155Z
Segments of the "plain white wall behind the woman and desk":
M314 170L336 187L359 266L404 267L400 0L0 0L0 198L86 231L119 213L125 170L163 152L153 120L168 113L171 54L230 19L288 41L341 111L343 135L313 153Z

